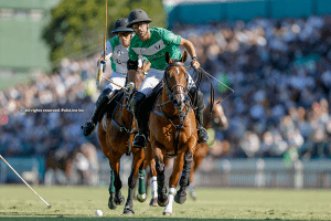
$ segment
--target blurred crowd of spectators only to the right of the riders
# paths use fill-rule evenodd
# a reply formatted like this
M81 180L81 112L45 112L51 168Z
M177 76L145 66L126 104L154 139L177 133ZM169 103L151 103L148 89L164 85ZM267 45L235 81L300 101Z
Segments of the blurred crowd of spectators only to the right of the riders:
M231 157L331 157L331 17L178 25L218 85ZM216 80L221 81L218 83ZM202 85L207 96L207 82Z

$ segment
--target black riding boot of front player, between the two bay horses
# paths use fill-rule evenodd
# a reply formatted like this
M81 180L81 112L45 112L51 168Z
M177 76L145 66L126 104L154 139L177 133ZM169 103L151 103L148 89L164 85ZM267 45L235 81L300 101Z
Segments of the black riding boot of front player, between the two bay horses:
M135 148L146 148L146 139L147 139L147 127L146 127L146 117L143 116L143 112L139 112L140 105L146 98L146 95L141 92L137 92L134 95L131 102L131 108L134 110L134 116L138 127L138 134L135 136L135 140L132 146Z

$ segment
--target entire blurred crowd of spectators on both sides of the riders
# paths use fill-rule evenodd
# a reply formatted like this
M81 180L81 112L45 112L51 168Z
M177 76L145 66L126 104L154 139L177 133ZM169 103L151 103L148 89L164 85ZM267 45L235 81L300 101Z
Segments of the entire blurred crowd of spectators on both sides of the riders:
M234 90L222 102L229 127L216 129L229 144L226 157L282 157L289 149L300 158L331 157L330 17L259 18L172 31L194 44L202 67L214 77L216 97L231 93L224 84ZM0 122L0 154L63 157L90 143L104 157L96 133L85 138L81 131L103 88L95 86L99 55L64 59L56 73L39 73L30 84L0 92L0 116L8 116ZM209 97L207 81L201 88Z

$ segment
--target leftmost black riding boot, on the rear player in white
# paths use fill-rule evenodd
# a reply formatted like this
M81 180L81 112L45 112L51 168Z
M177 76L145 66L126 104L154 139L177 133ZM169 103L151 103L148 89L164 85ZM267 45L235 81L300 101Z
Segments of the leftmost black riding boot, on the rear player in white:
M90 119L85 122L84 125L82 126L83 135L85 137L89 136L93 133L93 130L95 129L95 126L98 123L102 110L108 104L108 102L113 98L114 94L115 94L115 92L111 91L110 88L105 88L102 92L98 101L96 102L96 107L94 109L94 113L93 113Z

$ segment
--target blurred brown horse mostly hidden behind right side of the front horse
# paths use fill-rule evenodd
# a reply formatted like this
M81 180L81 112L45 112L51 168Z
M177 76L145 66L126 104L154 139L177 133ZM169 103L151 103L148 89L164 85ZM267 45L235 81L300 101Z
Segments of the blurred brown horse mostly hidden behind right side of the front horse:
M221 105L221 101L222 101L221 97L216 101L216 105L214 105L212 109L212 115L209 114L211 104L206 108L204 108L203 125L205 126L206 129L209 128L217 128L220 130L227 129L228 122L224 114L223 107ZM222 145L222 143L220 140L209 140L207 144L203 143L196 145L196 151L193 156L192 169L190 173L190 193L194 200L196 200L196 194L194 190L194 176L203 158L210 152L212 148L211 145Z

